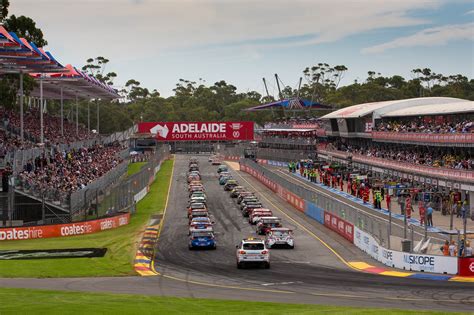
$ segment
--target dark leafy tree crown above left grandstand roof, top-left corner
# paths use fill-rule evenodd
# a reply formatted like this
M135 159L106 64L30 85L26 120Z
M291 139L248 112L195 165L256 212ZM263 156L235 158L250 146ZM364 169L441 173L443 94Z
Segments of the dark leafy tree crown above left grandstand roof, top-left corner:
M48 45L44 39L43 31L37 28L36 22L29 17L11 15L3 23L8 31L15 32L19 37L24 37L28 42L33 42L38 47Z

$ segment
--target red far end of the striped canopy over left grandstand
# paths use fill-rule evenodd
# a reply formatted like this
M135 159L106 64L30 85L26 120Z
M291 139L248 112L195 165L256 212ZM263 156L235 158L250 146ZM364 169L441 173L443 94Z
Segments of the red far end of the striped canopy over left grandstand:
M111 86L98 81L73 66L67 65L66 69L67 72L64 73L31 74L36 80L41 78L43 81L44 98L60 99L61 89L63 90L64 99L75 99L76 97L114 99L120 97ZM36 87L31 95L39 97L39 88Z

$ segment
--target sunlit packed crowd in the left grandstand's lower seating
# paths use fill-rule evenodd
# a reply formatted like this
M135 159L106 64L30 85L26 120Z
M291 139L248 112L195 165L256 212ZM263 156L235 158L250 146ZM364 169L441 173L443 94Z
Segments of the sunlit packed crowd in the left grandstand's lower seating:
M24 166L18 175L20 186L26 190L47 189L58 193L82 189L120 164L118 153L123 149L114 143L68 152L53 150Z

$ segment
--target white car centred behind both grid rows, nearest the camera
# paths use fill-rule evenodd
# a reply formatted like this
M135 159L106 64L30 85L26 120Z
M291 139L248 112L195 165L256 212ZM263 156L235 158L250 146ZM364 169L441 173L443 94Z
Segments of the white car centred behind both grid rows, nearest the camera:
M270 268L270 251L265 246L265 241L259 238L243 239L239 245L236 245L237 268L250 264L263 265Z

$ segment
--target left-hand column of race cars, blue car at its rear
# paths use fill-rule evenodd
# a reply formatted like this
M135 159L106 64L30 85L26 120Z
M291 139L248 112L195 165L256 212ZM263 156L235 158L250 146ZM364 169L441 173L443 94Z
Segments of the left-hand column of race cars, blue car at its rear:
M188 248L210 248L216 249L216 237L209 209L207 208L207 196L199 173L197 158L189 160L189 172L187 176L189 203L187 218L189 224Z

